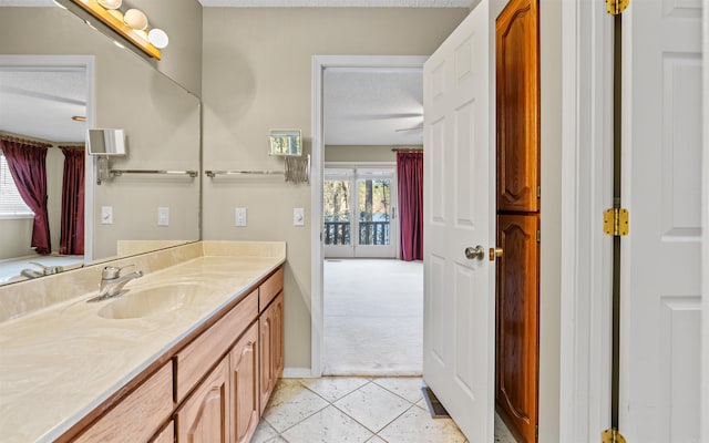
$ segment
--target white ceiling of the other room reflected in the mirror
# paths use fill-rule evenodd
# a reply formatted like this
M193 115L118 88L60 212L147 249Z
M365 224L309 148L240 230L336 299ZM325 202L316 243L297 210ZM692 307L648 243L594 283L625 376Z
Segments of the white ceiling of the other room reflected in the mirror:
M49 142L81 142L86 124L83 70L0 66L0 131Z

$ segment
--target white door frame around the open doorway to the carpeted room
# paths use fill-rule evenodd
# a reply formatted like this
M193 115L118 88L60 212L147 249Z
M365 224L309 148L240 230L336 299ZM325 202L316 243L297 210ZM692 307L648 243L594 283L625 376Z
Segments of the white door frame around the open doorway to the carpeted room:
M311 154L310 154L310 219L322 220L322 175L325 168L323 137L323 74L328 68L372 68L423 70L428 55L312 55L311 60ZM322 375L323 336L323 280L321 223L310 224L310 375Z

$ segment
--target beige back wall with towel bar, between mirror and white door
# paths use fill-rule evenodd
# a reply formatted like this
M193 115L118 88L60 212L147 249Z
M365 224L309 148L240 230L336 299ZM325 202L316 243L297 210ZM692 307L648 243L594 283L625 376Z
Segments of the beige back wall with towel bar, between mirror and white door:
M204 167L281 168L266 153L268 130L299 127L310 151L315 54L427 55L466 16L464 9L204 10ZM234 208L248 208L248 227ZM286 240L286 367L310 368L310 188L278 178L205 179L205 239Z

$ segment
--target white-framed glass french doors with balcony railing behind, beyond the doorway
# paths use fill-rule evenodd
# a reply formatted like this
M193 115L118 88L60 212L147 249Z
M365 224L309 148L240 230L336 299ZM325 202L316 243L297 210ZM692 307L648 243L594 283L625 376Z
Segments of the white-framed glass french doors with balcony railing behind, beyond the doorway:
M326 257L397 257L393 167L326 167L322 200Z

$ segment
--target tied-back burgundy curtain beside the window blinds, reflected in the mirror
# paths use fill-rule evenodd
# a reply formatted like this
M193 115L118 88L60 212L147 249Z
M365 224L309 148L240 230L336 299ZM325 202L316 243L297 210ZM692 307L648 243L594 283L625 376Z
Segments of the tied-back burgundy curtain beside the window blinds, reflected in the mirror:
M50 254L47 214L47 148L50 145L20 138L0 138L0 148L24 203L34 213L31 246L38 254Z

